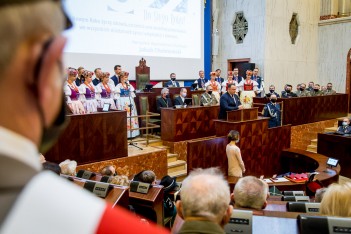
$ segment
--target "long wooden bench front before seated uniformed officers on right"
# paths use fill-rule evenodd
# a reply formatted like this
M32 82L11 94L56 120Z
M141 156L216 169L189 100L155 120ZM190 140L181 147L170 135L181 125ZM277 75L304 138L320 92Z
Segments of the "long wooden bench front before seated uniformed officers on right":
M254 98L254 103L267 103L266 98ZM293 126L347 116L348 95L278 98L283 102L283 125Z

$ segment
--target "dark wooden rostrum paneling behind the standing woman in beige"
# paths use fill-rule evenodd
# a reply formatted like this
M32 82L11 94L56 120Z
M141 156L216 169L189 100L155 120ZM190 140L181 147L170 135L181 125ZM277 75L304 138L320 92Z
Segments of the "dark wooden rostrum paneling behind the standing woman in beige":
M273 175L280 170L280 153L290 147L290 125L268 129L267 119L245 122L216 120L213 139L189 141L188 172L193 168L217 166L227 174L226 136L230 130L240 133L239 148L247 175ZM222 136L222 137L221 137Z

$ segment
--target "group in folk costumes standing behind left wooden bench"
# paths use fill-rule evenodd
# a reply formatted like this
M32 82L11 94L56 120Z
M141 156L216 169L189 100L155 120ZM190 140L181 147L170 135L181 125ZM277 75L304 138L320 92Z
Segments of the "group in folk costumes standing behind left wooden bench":
M137 110L134 103L135 89L128 82L129 73L115 66L115 75L96 68L94 72L80 67L67 69L67 81L64 85L66 103L73 114L89 114L109 104L111 109L127 111L128 137L140 134ZM95 78L93 79L93 75ZM136 129L130 131L131 129Z

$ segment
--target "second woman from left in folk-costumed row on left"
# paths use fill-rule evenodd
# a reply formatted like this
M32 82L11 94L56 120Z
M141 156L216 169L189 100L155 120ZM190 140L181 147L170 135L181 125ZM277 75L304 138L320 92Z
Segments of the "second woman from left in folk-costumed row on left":
M93 72L84 71L83 77L84 83L79 86L79 92L81 93L81 100L83 102L85 112L87 114L97 112L97 107L99 104L95 98L96 87L92 82Z

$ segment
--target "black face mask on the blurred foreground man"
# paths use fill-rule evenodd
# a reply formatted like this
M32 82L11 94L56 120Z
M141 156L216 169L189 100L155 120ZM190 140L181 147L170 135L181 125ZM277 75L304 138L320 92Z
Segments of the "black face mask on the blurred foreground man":
M42 109L40 108L39 110L41 112L41 118L43 119ZM63 130L65 130L68 123L69 119L66 116L66 102L64 100L64 95L62 95L61 109L54 123L50 127L43 128L43 135L39 145L40 153L45 154L56 143L57 139L60 137Z

